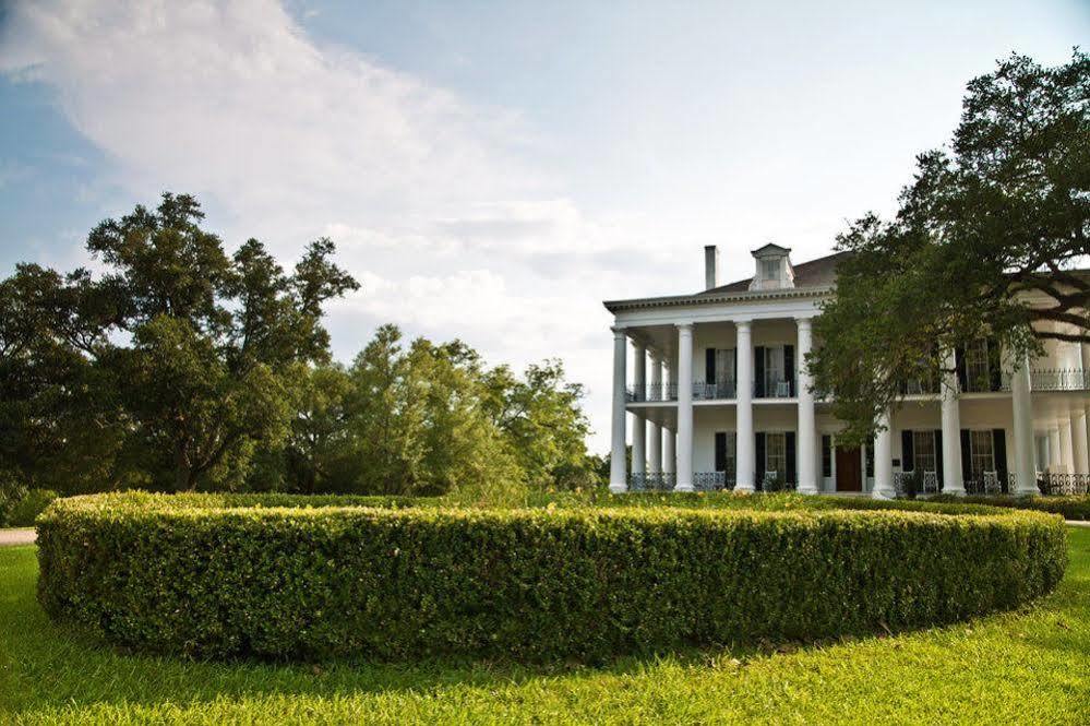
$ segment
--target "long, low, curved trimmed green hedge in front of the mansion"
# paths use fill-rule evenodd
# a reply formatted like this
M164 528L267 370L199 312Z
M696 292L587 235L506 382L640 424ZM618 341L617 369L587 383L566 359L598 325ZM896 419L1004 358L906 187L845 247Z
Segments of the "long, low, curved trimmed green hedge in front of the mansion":
M1063 522L1019 511L379 503L59 500L38 521L39 599L197 657L599 660L950 622L1052 591L1067 561Z

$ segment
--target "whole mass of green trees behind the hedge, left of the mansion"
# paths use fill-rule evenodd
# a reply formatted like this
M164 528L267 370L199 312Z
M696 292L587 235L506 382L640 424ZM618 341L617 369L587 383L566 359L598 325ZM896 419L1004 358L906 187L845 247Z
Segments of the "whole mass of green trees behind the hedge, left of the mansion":
M290 272L229 254L197 201L96 226L105 266L0 281L0 483L441 493L597 480L583 390L561 365L489 369L459 341L381 326L347 368L325 304L359 285L334 243Z

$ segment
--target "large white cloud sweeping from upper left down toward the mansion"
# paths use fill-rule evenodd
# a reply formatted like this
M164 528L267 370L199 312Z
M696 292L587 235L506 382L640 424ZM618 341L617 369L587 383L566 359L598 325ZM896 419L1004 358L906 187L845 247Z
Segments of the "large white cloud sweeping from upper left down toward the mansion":
M286 262L330 236L363 290L333 306L342 358L373 328L462 337L493 362L565 359L608 431L606 291L655 278L661 236L590 218L515 110L316 44L273 0L26 2L0 71L48 84L110 160L119 212L196 193L229 242Z

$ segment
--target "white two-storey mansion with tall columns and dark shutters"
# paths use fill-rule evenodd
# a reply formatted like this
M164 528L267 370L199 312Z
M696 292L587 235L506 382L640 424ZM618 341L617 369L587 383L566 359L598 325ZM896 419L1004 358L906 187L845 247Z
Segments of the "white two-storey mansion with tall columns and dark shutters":
M793 265L789 249L766 245L753 258L752 278L721 285L708 247L706 289L604 304L614 316L610 490L1086 487L1087 346L1049 342L1021 366L987 340L951 350L945 380L907 382L872 444L841 447L841 425L802 365L840 255Z

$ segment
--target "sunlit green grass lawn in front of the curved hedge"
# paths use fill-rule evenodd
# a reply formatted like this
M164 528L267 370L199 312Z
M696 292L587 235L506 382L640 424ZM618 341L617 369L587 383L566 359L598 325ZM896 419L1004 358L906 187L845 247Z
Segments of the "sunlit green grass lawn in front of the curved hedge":
M34 599L34 548L0 549L0 723L1087 723L1090 529L1068 532L1066 578L1026 612L793 652L544 669L124 655L55 628Z

